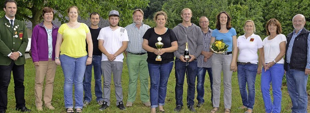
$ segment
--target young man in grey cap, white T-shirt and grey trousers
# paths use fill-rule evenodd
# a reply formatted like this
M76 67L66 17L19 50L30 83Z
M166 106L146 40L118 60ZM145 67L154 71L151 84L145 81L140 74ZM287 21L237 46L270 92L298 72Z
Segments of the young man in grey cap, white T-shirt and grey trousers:
M98 36L98 46L102 52L101 70L103 72L103 104L100 111L107 109L110 105L110 85L113 72L115 85L116 105L125 110L123 104L123 89L121 84L123 70L123 52L127 48L128 35L125 28L119 27L120 14L112 10L109 13L110 26L102 28Z

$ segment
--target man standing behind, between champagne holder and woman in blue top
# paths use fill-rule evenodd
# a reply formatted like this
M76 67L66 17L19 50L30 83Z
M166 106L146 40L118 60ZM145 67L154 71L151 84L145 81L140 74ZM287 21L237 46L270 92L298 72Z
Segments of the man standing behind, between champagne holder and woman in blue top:
M206 16L202 16L199 19L200 28L202 28L202 37L203 37L203 49L202 54L197 58L197 107L201 107L204 103L203 95L204 95L204 78L205 73L208 71L210 78L210 87L211 87L211 102L212 102L212 53L210 53L210 41L211 41L211 33L212 29L209 26L209 19Z

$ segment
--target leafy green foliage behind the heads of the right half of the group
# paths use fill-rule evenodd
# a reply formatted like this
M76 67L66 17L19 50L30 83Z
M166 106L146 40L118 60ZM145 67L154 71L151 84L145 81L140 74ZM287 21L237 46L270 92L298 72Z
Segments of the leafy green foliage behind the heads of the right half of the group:
M216 28L216 15L226 11L232 17L231 24L237 36L244 34L244 22L249 19L255 23L256 34L264 38L267 35L265 24L271 18L279 20L284 35L294 30L292 18L295 14L303 14L306 21L310 21L309 6L309 0L167 0L162 9L170 18L170 28L182 23L180 13L184 8L192 10L191 22L196 25L199 25L199 17L207 16L212 29ZM306 23L305 27L309 25Z

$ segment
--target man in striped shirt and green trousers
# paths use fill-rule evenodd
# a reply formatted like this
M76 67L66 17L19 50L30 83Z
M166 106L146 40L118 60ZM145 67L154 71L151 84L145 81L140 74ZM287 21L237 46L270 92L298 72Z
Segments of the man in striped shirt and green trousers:
M136 100L138 76L140 75L140 99L147 107L151 106L148 94L149 70L147 66L147 54L142 48L143 35L147 29L151 28L143 24L143 11L136 9L133 12L134 23L125 27L128 32L128 47L125 51L127 57L127 67L129 73L127 107L131 107Z

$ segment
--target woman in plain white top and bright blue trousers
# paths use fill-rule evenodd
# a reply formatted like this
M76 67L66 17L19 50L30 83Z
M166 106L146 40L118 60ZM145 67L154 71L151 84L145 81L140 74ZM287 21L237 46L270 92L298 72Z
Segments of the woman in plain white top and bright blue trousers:
M263 39L263 52L261 54L261 61L263 62L261 77L263 102L266 113L280 113L286 37L281 34L281 24L275 18L267 22L266 31L269 36ZM272 84L273 103L270 98L270 82Z

